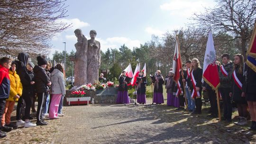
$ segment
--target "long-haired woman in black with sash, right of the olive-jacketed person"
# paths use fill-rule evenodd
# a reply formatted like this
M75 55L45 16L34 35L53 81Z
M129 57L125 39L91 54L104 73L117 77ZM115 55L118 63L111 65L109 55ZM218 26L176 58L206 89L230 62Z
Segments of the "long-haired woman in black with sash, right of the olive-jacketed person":
M247 101L245 95L242 95L243 84L243 65L244 56L242 54L236 54L234 56L234 70L232 74L232 85L229 96L236 102L238 106L238 122L237 125L247 124Z

